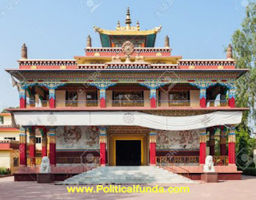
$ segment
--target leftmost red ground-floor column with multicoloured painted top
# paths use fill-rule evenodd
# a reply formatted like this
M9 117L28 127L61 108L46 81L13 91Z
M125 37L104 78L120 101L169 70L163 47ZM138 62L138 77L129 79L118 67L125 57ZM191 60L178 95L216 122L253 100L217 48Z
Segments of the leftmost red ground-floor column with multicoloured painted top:
M26 167L26 129L20 128L19 134L19 164L20 167Z

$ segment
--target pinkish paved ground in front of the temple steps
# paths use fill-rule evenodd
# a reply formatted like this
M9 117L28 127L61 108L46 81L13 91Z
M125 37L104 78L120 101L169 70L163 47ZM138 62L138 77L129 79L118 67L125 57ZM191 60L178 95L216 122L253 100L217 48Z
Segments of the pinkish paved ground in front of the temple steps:
M150 185L154 186L154 185ZM161 185L168 188L170 185ZM243 176L240 181L225 181L202 184L175 184L189 186L186 194L69 194L66 186L14 182L13 177L0 178L0 199L206 199L206 200L252 200L256 199L256 177Z

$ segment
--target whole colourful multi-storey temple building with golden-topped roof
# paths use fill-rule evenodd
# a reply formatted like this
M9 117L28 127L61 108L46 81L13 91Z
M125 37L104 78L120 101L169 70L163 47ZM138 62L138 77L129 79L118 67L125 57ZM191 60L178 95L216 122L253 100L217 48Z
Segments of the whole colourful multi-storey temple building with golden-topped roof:
M74 59L30 59L22 46L19 68L6 69L20 99L20 108L8 109L20 129L17 180L36 173L43 156L55 174L78 165L175 165L197 179L213 155L218 173L240 177L235 127L248 108L236 108L235 81L246 69L236 69L232 46L225 59L182 59L168 36L155 47L161 26L131 23L128 9L125 26L94 26L102 47L88 36L85 55Z

